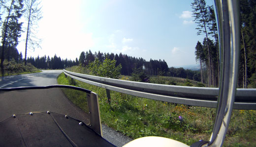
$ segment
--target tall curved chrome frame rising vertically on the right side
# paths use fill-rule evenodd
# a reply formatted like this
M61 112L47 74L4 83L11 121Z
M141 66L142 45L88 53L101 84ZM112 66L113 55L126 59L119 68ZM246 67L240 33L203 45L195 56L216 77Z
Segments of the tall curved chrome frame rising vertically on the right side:
M235 100L240 50L240 9L238 0L214 0L219 29L221 81L217 116L210 147L221 147Z

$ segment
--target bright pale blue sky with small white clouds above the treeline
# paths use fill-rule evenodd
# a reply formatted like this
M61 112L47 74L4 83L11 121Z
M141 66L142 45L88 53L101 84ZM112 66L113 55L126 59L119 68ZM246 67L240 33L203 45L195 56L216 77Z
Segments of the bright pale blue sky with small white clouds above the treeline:
M28 56L79 58L82 51L113 52L165 60L169 67L195 64L192 0L42 0L41 49ZM207 1L212 4L211 0ZM24 36L22 37L24 38ZM24 55L24 41L18 50Z

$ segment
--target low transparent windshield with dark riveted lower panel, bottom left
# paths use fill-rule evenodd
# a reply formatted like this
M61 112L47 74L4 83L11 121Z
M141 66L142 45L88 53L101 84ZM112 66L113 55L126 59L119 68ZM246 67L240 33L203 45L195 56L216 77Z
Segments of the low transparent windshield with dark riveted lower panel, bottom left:
M88 90L62 85L1 89L0 146L112 147L93 127L90 95ZM80 108L72 103L74 98Z

